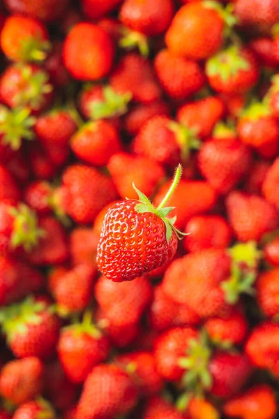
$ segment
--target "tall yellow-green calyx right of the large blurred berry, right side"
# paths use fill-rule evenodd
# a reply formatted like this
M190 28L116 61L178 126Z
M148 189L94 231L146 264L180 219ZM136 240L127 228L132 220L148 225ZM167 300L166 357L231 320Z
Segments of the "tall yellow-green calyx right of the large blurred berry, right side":
M252 295L255 292L253 284L262 252L257 249L256 242L248 242L236 244L229 250L229 254L232 256L231 275L221 286L225 300L229 304L236 304L242 293Z

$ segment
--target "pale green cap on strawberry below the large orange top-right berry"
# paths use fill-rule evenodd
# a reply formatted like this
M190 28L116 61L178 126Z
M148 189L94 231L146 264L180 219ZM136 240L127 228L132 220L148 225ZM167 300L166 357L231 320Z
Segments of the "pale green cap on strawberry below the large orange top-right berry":
M224 82L234 77L239 71L248 71L250 64L241 57L239 47L231 45L206 61L206 74L219 76Z

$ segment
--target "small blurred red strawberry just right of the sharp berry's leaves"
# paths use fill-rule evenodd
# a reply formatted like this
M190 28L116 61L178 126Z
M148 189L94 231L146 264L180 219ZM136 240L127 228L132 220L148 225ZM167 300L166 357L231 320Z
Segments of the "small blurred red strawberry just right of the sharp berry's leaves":
M225 249L232 241L229 223L219 215L197 215L186 223L183 246L186 251L199 251L215 247Z

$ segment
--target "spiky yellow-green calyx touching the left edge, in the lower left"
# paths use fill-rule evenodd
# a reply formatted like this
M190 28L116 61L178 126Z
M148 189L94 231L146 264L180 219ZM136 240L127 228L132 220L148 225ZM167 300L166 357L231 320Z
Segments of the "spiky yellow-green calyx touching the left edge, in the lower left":
M2 332L8 337L25 335L28 325L39 325L39 314L45 310L44 302L36 302L33 297L27 297L23 302L12 304L0 310L0 324Z

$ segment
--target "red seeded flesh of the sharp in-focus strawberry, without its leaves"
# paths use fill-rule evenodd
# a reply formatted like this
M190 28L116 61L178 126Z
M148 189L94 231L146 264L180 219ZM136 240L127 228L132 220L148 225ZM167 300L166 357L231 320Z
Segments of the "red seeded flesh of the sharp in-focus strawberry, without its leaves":
M121 201L105 216L97 263L112 281L128 281L165 265L177 249L175 233L167 242L164 221L156 214L136 212L137 204Z

